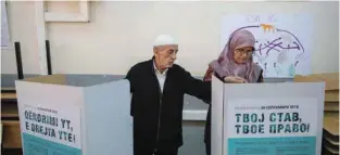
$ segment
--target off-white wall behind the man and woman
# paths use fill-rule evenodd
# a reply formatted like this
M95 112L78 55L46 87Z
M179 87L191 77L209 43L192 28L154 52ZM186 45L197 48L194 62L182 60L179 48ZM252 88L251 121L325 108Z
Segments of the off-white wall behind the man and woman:
M13 36L25 42L25 73L38 74L36 29L34 20L29 20L34 18L34 4L11 3ZM53 7L61 4L51 3L49 9ZM221 16L227 13L313 14L312 72L339 70L338 2L96 1L90 8L90 23L48 23L53 73L126 74L131 65L152 56L152 41L159 34L169 34L179 41L179 64L193 75L202 75L221 52ZM14 53L2 54L2 73L15 73Z

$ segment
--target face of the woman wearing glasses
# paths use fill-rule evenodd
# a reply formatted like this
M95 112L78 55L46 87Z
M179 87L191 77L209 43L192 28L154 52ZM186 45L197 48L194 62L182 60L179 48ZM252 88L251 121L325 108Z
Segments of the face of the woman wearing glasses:
M253 55L253 47L243 47L235 49L234 61L238 64L244 64Z

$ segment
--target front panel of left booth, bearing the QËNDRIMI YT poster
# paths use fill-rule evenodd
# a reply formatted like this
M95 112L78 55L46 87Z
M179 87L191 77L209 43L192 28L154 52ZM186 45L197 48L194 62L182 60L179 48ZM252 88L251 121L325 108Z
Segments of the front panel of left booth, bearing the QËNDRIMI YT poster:
M81 155L80 88L15 81L24 154Z

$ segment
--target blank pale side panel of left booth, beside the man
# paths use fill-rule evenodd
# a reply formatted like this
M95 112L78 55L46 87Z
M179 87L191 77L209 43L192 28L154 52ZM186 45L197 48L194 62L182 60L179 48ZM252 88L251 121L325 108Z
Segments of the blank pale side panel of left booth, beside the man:
M85 88L87 155L133 155L133 118L127 80Z

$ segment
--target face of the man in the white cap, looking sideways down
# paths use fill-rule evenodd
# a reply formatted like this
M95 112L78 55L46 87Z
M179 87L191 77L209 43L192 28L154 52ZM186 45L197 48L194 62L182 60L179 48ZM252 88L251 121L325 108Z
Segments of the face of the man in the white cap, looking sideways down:
M155 63L159 69L172 67L178 52L177 44L159 46L153 48Z

